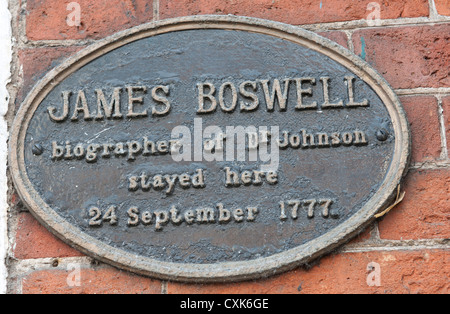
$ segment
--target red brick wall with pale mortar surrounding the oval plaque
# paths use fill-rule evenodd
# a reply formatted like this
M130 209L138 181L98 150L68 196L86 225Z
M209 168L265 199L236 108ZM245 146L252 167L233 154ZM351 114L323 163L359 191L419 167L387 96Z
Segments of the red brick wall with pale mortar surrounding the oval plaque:
M449 0L69 0L10 1L15 37L11 123L32 85L86 45L153 20L234 14L300 25L353 50L397 91L411 123L412 164L404 201L309 269L233 284L179 284L100 264L53 237L11 187L11 293L449 293L450 4ZM381 21L369 26L370 2ZM369 285L370 263L380 285ZM74 268L74 265L78 268ZM71 285L76 269L79 285ZM77 274L78 274L77 273ZM370 280L369 280L370 281Z

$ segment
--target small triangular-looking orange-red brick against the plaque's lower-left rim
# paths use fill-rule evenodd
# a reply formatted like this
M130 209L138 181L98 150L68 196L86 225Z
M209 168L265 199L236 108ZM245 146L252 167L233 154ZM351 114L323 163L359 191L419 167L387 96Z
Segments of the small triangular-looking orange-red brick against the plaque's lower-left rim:
M19 215L14 245L15 258L34 259L74 256L83 256L83 254L52 235L30 213L21 213Z

